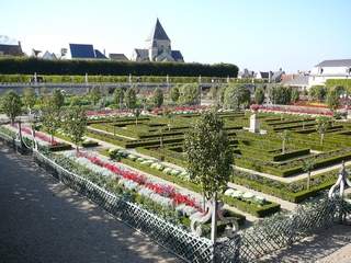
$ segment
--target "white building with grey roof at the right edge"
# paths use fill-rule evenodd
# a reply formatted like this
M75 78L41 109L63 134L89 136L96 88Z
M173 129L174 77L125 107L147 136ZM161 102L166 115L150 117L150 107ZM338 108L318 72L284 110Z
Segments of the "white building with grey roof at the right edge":
M325 84L328 79L348 79L350 77L351 59L324 60L310 70L308 85Z

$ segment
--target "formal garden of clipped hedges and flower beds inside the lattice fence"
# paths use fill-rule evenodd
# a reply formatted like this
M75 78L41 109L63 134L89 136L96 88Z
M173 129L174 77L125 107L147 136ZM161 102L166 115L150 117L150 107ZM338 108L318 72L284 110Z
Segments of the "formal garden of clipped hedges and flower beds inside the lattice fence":
M319 100L315 90L310 96ZM56 173L77 174L200 240L231 238L236 247L244 231L246 259L260 256L262 251L248 249L258 241L252 226L293 224L286 218L297 204L320 206L317 201L340 179L340 164L351 165L351 123L342 119L342 101L330 91L326 105L332 114L274 108L302 101L303 94L282 87L270 91L271 107L261 105L263 88L250 94L244 84L227 83L199 92L196 83L151 92L93 88L82 95L10 91L1 98L9 122L0 135L22 141ZM213 105L199 105L202 96ZM324 216L333 220L335 208L327 210L315 215L320 226ZM282 244L294 239L284 236Z

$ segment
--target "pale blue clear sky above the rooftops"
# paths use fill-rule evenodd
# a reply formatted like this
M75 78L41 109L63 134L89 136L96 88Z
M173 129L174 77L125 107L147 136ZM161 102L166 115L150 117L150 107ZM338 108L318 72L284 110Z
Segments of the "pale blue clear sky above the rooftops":
M159 18L188 62L310 70L351 58L350 0L0 0L0 35L59 53L93 44L132 56Z

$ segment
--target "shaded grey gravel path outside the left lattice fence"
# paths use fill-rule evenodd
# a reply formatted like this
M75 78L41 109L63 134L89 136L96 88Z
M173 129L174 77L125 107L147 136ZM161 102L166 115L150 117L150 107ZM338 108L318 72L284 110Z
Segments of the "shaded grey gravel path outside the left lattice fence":
M0 144L0 262L180 262Z

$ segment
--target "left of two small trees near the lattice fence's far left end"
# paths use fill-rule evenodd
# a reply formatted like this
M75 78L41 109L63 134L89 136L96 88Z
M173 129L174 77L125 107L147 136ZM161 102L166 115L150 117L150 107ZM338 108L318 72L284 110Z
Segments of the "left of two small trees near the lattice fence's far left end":
M60 112L50 101L47 101L41 110L43 127L50 135L50 144L53 145L54 134L61 125Z

